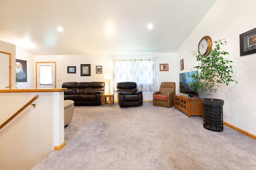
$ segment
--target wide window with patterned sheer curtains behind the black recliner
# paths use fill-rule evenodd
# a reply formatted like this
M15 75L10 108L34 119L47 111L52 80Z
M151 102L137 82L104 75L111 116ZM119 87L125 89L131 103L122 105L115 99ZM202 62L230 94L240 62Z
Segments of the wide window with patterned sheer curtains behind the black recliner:
M113 83L136 82L138 90L156 90L156 59L113 59Z

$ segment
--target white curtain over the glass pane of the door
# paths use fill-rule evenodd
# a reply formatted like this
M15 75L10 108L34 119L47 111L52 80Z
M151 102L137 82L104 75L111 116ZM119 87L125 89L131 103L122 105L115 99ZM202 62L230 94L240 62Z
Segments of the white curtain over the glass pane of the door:
M52 66L42 65L39 66L39 84L52 85Z

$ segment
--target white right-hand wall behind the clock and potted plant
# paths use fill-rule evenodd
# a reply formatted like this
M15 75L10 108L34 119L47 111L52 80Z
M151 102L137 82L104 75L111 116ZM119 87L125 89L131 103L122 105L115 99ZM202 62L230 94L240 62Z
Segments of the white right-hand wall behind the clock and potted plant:
M217 0L176 53L177 65L184 59L184 70L177 68L177 72L187 72L197 64L190 52L197 51L202 37L208 35L212 41L226 39L228 45L222 49L230 54L226 58L234 62L238 85L223 86L214 98L224 100L225 122L253 135L256 135L256 54L240 57L239 35L256 27L255 7L255 0Z

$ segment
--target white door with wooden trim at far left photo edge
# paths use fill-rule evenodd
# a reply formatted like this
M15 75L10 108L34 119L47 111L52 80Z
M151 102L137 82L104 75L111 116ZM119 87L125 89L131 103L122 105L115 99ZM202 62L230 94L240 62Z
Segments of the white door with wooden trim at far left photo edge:
M0 89L12 88L12 54L0 51Z

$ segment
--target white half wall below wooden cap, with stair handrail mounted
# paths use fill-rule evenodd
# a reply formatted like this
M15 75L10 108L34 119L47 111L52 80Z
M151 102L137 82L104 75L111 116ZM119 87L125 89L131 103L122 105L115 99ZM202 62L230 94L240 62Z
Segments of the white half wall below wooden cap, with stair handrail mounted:
M36 95L35 108L28 106L0 130L1 170L28 169L64 143L63 91L0 92L0 124Z

